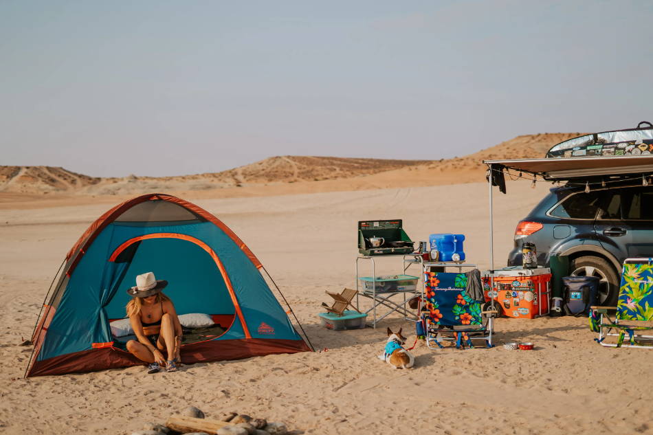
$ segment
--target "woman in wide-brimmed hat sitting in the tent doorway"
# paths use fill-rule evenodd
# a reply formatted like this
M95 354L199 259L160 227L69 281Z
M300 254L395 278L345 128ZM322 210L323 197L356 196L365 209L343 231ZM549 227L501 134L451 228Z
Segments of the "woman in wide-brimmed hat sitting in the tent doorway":
M153 272L138 275L136 287L127 290L132 300L126 306L129 322L136 340L127 342L127 350L138 359L150 363L148 373L156 373L161 366L176 372L181 347L181 324L173 301L161 291L168 285L157 280ZM166 352L166 358L162 352Z

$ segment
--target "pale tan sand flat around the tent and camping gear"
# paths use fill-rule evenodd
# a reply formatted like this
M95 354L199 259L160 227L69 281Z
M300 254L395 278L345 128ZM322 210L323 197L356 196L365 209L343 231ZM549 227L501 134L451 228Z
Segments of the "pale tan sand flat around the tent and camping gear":
M496 265L549 186L509 183L495 196ZM131 434L195 405L208 416L236 410L287 423L296 434L652 434L647 350L593 342L584 318L500 319L496 348L414 350L413 370L377 359L385 328L319 326L325 290L355 285L356 221L401 218L408 234L467 236L469 261L489 266L487 185L390 188L252 198L186 199L239 234L272 274L319 351L194 364L146 375L133 367L22 379L30 337L67 250L111 201L4 202L0 210L0 432ZM36 199L34 200L36 201ZM117 201L115 201L117 202ZM274 229L274 230L272 230ZM396 274L397 258L379 260ZM172 295L174 298L174 295ZM532 341L535 350L501 344Z

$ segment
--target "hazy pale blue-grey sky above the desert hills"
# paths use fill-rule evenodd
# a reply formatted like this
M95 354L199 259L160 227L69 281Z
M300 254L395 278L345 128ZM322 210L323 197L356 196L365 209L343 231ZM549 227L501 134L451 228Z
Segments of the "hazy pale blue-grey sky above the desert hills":
M0 165L441 159L653 122L652 1L0 0Z

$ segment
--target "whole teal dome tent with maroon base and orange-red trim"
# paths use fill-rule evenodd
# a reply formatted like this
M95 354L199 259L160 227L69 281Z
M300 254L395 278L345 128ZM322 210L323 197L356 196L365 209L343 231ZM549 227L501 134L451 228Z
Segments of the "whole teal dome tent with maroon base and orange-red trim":
M311 350L261 270L245 243L197 205L167 194L116 205L68 252L34 328L25 376L143 364L118 346L110 322L125 316L125 290L146 271L168 280L177 313L207 313L225 328L183 344L183 363Z

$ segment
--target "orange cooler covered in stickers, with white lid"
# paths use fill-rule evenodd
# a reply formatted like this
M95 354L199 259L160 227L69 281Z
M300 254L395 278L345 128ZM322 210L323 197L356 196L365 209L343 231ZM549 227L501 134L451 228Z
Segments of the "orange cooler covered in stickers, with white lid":
M551 269L523 269L519 266L494 271L494 289L490 289L491 275L483 273L485 300L492 298L507 317L533 319L549 314Z

